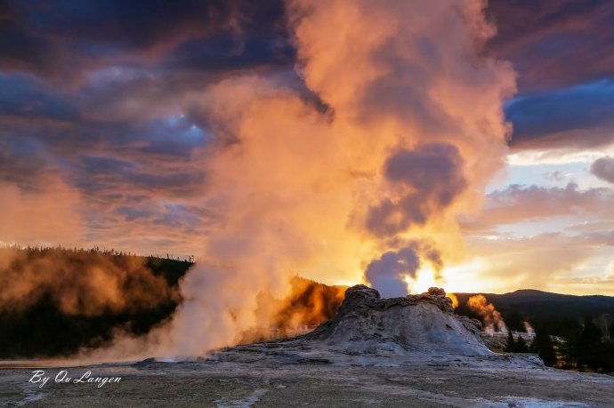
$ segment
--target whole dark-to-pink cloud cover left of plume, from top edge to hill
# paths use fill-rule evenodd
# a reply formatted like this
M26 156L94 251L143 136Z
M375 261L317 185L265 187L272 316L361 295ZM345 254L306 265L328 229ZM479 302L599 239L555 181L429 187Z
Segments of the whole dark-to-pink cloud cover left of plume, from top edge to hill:
M284 10L283 1L2 2L0 180L20 195L46 174L61 180L79 196L85 246L198 252L217 222L202 164L213 124L198 100L246 71L282 73L299 89L287 75Z

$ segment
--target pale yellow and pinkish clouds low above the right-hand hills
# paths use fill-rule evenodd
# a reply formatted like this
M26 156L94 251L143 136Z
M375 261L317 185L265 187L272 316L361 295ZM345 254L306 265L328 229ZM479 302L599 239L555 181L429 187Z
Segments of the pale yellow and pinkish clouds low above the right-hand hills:
M535 288L551 292L614 293L583 284L610 259L614 235L610 188L513 185L490 193L484 210L461 221L466 255L480 265L481 291ZM477 290L477 289L476 289Z

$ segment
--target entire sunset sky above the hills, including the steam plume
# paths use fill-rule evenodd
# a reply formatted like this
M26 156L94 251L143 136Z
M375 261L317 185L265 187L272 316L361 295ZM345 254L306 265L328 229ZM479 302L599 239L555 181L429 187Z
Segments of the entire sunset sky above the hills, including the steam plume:
M309 3L0 0L0 242L614 295L612 2Z

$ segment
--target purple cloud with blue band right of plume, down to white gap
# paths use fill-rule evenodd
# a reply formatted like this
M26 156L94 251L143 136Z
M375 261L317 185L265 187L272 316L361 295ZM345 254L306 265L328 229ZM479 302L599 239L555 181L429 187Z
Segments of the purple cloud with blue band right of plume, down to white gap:
M491 0L486 52L518 71L507 108L514 148L586 148L614 141L614 3Z

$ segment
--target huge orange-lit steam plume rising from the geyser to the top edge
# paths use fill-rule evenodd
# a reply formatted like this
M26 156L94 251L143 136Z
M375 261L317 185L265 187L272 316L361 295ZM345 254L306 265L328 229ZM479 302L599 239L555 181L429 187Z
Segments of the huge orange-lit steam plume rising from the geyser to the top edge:
M308 91L253 74L202 93L220 222L160 353L201 355L274 324L259 298L287 297L295 273L330 284L368 270L383 296L407 293L423 267L445 284L443 261L462 248L456 216L479 207L503 164L502 101L515 90L510 65L480 53L495 32L485 5L290 1Z

